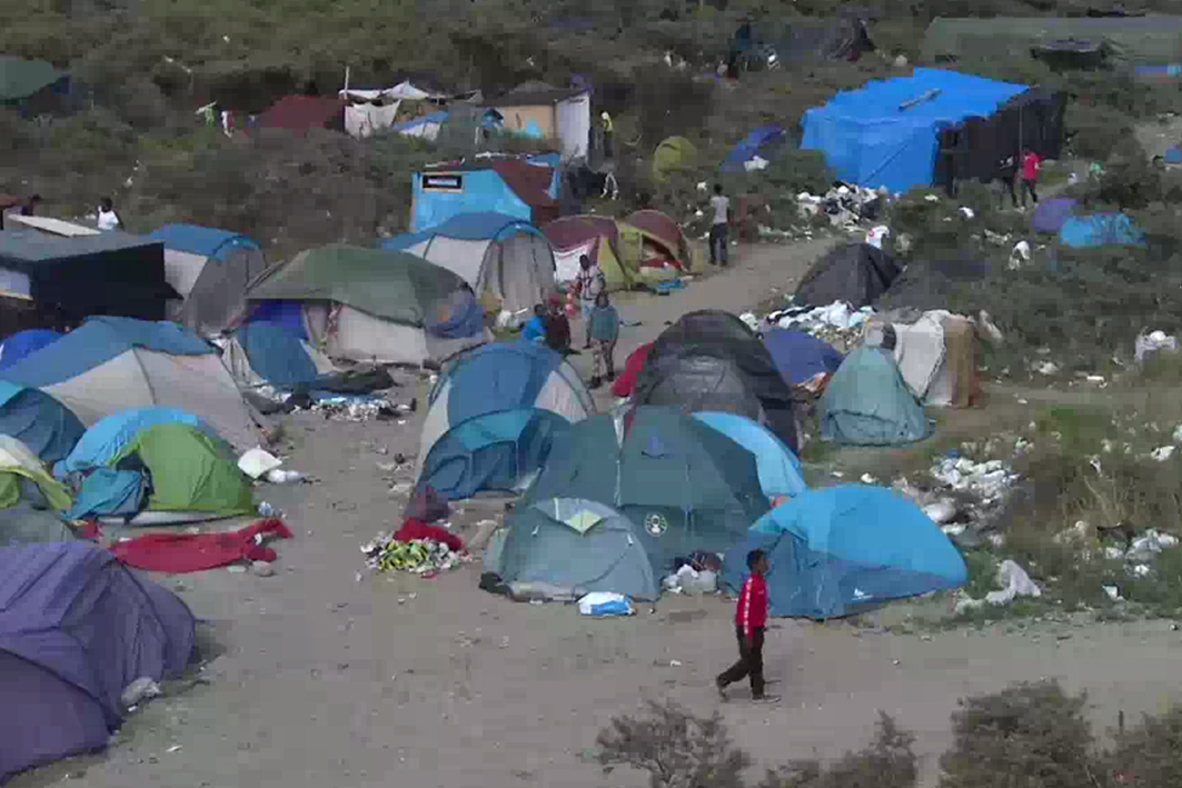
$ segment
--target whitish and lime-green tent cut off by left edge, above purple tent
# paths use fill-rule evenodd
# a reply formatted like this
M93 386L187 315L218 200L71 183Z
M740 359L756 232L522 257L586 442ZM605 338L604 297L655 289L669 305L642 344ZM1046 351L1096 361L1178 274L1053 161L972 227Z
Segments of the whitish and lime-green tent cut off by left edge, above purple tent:
M59 515L70 503L70 494L28 447L0 435L0 547L72 540Z

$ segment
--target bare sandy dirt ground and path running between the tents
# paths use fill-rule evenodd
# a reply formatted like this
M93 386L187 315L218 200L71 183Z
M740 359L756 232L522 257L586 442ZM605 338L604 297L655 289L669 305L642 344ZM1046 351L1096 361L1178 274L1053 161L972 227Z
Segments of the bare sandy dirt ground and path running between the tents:
M621 298L623 317L643 324L624 330L621 363L686 311L740 312L773 286L791 289L823 248L741 249L733 269L686 291ZM402 396L423 402L426 391L420 383ZM780 620L766 659L782 702L754 706L736 688L720 705L710 682L735 656L725 599L665 597L634 618L595 620L487 594L479 564L436 580L371 575L358 546L395 528L404 504L377 465L417 451L418 421L305 413L285 426L287 465L319 482L258 490L296 534L277 545L277 574L158 578L206 621L208 683L144 705L106 753L13 786L638 788L642 775L604 777L586 756L604 724L647 698L721 708L762 764L862 747L881 709L918 735L923 784L934 786L949 714L968 693L1059 677L1090 692L1106 729L1118 711L1157 711L1177 684L1180 634L1167 621L902 636ZM482 500L457 507L452 522L470 536L475 522L502 514L502 501Z

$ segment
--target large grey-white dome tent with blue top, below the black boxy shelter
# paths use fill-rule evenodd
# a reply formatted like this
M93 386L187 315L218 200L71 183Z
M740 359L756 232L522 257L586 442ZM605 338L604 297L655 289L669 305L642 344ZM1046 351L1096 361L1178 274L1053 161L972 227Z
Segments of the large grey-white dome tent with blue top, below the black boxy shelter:
M242 400L216 349L170 323L91 318L48 347L0 372L40 389L92 425L119 411L182 408L241 449L261 422Z

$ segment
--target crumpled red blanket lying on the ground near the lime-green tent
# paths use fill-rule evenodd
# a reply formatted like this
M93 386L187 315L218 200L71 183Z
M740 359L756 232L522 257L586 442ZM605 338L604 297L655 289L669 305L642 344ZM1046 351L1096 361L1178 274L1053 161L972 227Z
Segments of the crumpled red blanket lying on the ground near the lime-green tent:
M260 520L225 534L148 534L111 547L115 558L149 572L200 572L235 561L274 561L275 551L255 536L291 539L282 520Z

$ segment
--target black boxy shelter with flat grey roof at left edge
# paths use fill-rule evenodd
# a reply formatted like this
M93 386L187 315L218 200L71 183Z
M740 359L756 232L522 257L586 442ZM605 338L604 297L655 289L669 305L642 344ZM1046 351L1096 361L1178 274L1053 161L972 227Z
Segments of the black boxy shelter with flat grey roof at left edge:
M165 301L176 298L164 279L164 246L119 232L84 237L0 233L0 289L71 321L95 314L161 320Z

